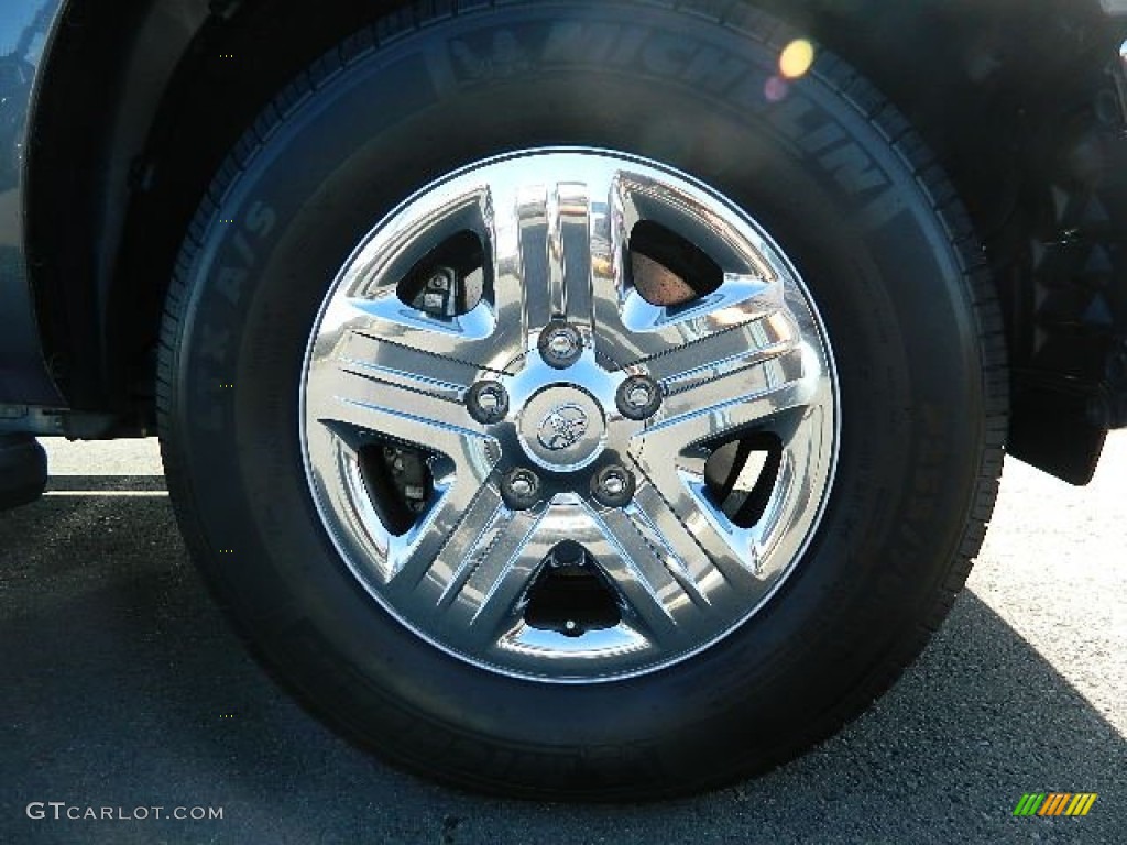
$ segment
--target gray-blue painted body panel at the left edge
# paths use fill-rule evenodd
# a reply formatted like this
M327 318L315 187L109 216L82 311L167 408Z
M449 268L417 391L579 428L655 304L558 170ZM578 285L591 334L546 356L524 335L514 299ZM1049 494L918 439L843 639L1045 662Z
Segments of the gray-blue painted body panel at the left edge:
M25 255L28 127L64 0L5 0L0 11L0 403L61 406L43 358Z

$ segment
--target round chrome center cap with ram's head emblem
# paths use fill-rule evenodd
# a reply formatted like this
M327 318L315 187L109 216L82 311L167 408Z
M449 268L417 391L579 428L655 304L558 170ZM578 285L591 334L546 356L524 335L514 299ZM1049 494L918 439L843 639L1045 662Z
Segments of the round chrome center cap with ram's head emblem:
M529 456L551 470L576 470L594 461L606 441L603 409L587 391L554 385L535 393L520 420Z

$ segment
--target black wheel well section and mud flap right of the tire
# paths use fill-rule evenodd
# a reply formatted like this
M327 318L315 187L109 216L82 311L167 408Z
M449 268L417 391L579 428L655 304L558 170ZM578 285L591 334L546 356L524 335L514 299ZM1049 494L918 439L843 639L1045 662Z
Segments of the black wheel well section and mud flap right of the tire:
M1010 454L1086 483L1127 426L1125 18L1097 0L814 0L798 23L904 112L970 213L1005 318Z

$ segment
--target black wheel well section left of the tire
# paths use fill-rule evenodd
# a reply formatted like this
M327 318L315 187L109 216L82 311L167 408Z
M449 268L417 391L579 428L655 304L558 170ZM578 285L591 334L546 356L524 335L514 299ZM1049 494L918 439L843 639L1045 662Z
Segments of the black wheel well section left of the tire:
M163 294L223 158L293 75L394 6L70 0L36 109L27 207L44 344L74 408L126 427L151 419Z

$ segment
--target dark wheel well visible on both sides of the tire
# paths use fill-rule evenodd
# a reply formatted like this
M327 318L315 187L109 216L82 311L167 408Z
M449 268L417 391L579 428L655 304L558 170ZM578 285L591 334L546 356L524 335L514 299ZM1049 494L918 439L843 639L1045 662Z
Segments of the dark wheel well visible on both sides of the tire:
M721 16L748 5L696 2ZM462 5L470 3L427 3L452 11ZM943 162L997 281L1015 389L1022 379L1048 385L1015 395L1011 435L1022 442L1022 420L1053 407L1055 381L1090 384L1077 400L1086 409L1106 381L1115 343L1107 332L1098 340L1080 332L1063 345L1049 337L1036 288L1045 244L1076 225L1062 203L1107 195L1116 178L1111 159L1122 155L1093 145L1093 136L1118 132L1124 122L1122 91L1109 73L1124 33L1108 25L1098 1L754 5L858 66ZM301 68L374 17L410 7L406 0L123 0L110 14L104 6L71 0L56 36L29 163L29 255L48 355L66 395L78 408L143 420L151 415L165 286L227 151ZM1127 192L1111 187L1118 198L1108 202L1121 206ZM1110 309L1119 337L1127 327L1122 299ZM1098 454L1102 434L1088 416L1080 412L1083 424L1068 435L1083 441L1071 450L1079 457L1068 459L1081 468L1057 468L1061 474L1082 475ZM1051 454L1035 457L1054 463Z

